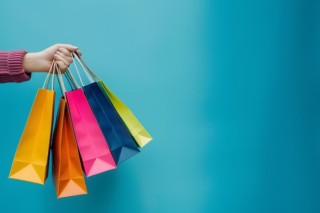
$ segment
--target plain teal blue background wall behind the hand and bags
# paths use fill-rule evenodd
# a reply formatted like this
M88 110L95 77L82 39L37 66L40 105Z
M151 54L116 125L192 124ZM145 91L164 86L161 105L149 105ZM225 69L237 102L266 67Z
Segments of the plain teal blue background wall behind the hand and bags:
M1 1L1 50L79 46L154 139L57 199L51 176L8 178L45 74L2 84L0 210L319 212L319 14L303 0Z

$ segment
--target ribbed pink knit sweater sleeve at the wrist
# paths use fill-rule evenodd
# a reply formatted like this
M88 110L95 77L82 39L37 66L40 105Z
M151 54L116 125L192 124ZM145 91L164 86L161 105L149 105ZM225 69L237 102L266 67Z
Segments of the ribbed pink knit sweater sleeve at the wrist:
M31 73L25 73L22 59L27 51L0 51L0 83L24 82L31 78Z

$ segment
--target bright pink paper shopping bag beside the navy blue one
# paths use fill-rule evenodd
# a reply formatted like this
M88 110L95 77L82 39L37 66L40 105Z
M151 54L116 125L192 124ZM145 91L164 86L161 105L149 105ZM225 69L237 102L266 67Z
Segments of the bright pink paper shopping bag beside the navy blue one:
M117 168L82 89L67 91L65 96L86 176Z

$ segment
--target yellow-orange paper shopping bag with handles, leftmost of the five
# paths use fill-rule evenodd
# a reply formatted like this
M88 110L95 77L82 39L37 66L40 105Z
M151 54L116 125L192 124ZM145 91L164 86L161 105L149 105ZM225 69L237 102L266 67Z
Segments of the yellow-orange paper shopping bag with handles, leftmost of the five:
M52 134L55 91L45 89L50 69L43 87L38 89L27 124L20 138L9 178L44 184L48 177L49 152ZM47 85L48 86L48 85Z

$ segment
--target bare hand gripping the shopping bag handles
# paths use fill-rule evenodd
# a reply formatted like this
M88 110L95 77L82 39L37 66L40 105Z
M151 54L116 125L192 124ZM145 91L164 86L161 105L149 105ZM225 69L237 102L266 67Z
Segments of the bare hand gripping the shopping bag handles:
M33 72L49 72L53 59L56 59L57 64L61 69L61 73L65 72L65 66L69 66L72 63L71 52L79 53L81 56L81 51L78 51L76 46L71 44L61 44L57 43L50 46L41 52L37 53L26 53L24 60L22 61L22 67L25 69L26 73Z

